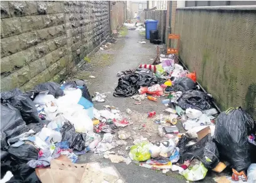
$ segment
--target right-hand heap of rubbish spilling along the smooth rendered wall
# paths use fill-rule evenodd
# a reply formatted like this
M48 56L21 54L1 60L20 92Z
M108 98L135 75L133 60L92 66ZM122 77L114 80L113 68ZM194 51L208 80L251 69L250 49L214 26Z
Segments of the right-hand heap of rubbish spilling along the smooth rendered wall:
M160 55L157 65L139 65L136 70L119 71L117 76L114 97L131 97L137 105L146 98L156 102L164 97L161 103L168 113L160 118L156 112L148 113L165 140L134 142L131 160L163 173L178 171L189 181L204 179L211 170L220 173L226 167L231 168L232 177L216 182L256 181L255 120L241 107L219 113L212 96L197 85L195 71L184 70L173 55ZM178 123L186 133L179 133Z

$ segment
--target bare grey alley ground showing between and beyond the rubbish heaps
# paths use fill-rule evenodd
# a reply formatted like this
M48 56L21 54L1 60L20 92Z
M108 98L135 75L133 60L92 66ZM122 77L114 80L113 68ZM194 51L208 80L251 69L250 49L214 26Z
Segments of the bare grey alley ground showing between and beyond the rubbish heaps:
M119 77L116 76L117 71L137 68L141 63L152 63L156 58L156 45L146 41L146 44L140 44L138 41L145 40L145 36L142 36L137 31L122 30L123 37L117 38L115 44L108 45L108 49L104 51L98 51L88 59L88 63L80 68L80 72L77 73L77 78L87 80L87 85L91 95L93 92L98 91L100 93L107 93L107 101L104 103L94 103L94 107L98 110L104 109L104 105L114 105L125 114L125 110L130 108L132 110L131 121L133 125L129 127L121 128L120 130L134 130L134 133L143 135L149 140L159 140L157 135L157 125L153 119L146 118L146 113L156 111L157 114L163 113L165 108L161 104L161 100L164 97L159 98L158 102L152 102L149 100L142 101L141 105L134 105L134 100L131 98L114 97L113 91L117 86ZM153 60L151 60L153 59ZM89 75L96 76L96 78L90 78ZM125 114L126 115L126 114ZM146 124L146 128L138 130L138 127L142 124ZM178 125L182 131L183 127ZM137 128L137 129L136 129ZM127 140L131 145L133 140ZM124 149L124 147L122 147ZM113 149L115 152L116 150ZM119 149L120 150L120 149ZM126 152L128 153L128 152ZM182 175L176 172L168 172L163 174L161 171L151 170L144 167L139 167L134 163L126 165L124 162L113 164L109 159L104 159L99 154L85 154L81 155L78 159L78 163L85 162L99 162L101 166L107 167L114 165L118 170L120 176L124 182L186 182L186 179ZM206 175L204 180L200 182L215 182L212 179L213 175Z

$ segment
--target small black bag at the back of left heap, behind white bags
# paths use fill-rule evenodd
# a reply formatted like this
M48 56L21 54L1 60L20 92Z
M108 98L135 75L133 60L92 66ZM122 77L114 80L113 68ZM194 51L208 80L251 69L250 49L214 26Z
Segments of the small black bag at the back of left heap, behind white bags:
M48 90L48 95L53 95L55 98L61 97L64 95L63 90L60 89L60 85L55 82L46 82L36 85L33 90Z

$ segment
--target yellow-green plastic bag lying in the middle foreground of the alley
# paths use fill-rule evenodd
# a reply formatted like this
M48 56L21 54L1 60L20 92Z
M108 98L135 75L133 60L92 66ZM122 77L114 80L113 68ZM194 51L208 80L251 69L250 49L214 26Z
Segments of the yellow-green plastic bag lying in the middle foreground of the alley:
M150 153L149 153L149 146L151 143L149 142L140 142L137 145L132 145L129 157L132 160L138 161L138 162L144 162L148 159L150 159Z

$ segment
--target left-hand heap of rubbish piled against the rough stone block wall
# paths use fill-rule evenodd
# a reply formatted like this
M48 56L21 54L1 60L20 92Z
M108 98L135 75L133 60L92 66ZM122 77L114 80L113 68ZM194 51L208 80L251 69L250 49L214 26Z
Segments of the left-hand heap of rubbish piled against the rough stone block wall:
M83 80L41 83L25 93L18 88L1 92L1 179L55 182L63 179L53 176L56 164L65 161L74 167L78 156L88 151L104 153L124 145L111 133L131 122L115 107L93 107L93 101L104 102L106 97L97 92L91 97ZM105 133L103 138L100 132ZM67 170L62 169L74 177L74 170ZM82 179L85 169L81 171Z

